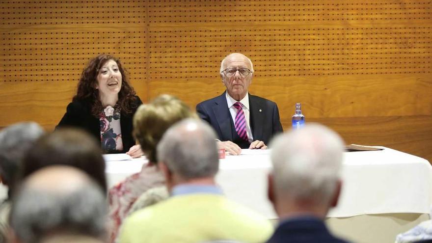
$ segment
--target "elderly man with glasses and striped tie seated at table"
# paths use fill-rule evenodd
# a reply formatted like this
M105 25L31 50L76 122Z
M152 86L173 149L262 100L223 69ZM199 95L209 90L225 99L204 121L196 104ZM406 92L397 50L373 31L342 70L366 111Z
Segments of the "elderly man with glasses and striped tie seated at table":
M233 155L242 148L267 149L270 139L283 132L276 103L248 93L253 73L247 56L227 55L220 63L226 91L196 106L201 119L215 129L219 148Z

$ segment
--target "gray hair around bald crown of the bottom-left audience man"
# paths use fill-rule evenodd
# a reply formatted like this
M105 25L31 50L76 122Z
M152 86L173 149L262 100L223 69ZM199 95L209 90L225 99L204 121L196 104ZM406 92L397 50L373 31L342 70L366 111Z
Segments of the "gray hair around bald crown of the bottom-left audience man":
M57 231L102 239L106 205L104 192L90 180L67 193L24 187L14 198L10 225L22 243L37 243Z

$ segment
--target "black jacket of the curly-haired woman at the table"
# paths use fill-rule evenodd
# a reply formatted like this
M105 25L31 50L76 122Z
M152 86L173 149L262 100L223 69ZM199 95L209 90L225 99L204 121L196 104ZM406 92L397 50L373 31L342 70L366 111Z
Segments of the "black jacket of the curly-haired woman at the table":
M126 114L124 112L120 112L120 129L123 141L123 151L118 151L120 153L128 152L129 149L135 145L135 139L132 135L132 119L134 117L136 108L142 104L139 97L135 97L137 100L135 104L132 105L132 113ZM97 141L99 141L99 144L101 144L101 128L99 125L99 118L91 114L91 105L89 101L80 100L69 103L66 108L66 113L64 114L63 118L61 118L55 129L61 127L81 128L96 138Z

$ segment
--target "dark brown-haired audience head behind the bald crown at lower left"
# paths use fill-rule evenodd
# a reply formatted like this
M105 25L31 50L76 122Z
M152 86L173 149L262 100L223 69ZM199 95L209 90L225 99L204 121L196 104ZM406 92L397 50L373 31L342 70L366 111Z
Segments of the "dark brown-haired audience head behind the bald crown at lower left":
M107 191L105 161L97 141L79 129L58 129L42 136L24 158L25 178L34 171L55 164L79 168Z

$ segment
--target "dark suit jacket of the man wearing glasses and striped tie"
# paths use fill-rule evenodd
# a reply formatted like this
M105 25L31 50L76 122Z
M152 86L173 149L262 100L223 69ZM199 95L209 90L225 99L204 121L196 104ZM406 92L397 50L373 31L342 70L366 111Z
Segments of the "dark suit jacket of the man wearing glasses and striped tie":
M241 148L249 148L249 143L240 138L235 130L225 92L196 105L196 112L215 129L219 140L233 141ZM283 132L276 103L249 94L249 112L253 140L261 140L269 145L274 135Z

